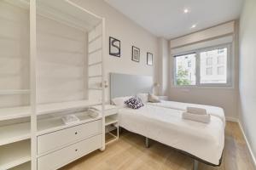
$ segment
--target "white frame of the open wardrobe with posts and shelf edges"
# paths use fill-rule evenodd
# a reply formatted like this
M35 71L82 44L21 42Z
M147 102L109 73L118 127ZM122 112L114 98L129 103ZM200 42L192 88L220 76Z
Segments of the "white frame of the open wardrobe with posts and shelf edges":
M8 1L8 0L6 0ZM102 78L101 78L101 87L98 89L92 89L92 90L102 90L102 102L96 104L96 105L102 105L102 148L101 150L105 150L105 116L104 116L104 110L105 110L105 88L106 82L104 81L104 54L106 54L105 52L105 19L91 13L89 10L82 8L81 6L79 6L76 3L71 2L70 0L63 0L66 3L68 3L69 5L73 6L73 8L78 8L79 10L83 11L84 14L88 14L91 17L95 18L96 20L100 20L99 25L102 26L102 41L101 41L101 45L102 45L102 53L101 53L101 58L102 58ZM37 0L20 0L20 2L22 3L26 3L26 5L28 4L28 11L29 11L29 89L17 89L17 90L0 90L0 95L13 95L13 94L26 94L29 95L30 99L29 99L29 104L28 106L25 106L24 109L25 111L16 111L14 115L6 115L6 117L1 117L0 115L0 121L4 121L4 120L15 120L15 119L20 119L20 118L30 118L30 133L27 134L26 139L31 139L31 169L32 170L37 170L38 169L38 115L39 112L44 112L45 114L50 114L48 113L46 110L42 111L42 105L38 105L38 94L37 94L37 85L38 85L38 81L37 81L37 62L38 62L38 56L37 56ZM15 0L13 1L13 3L17 3L15 2ZM21 4L22 5L22 4ZM98 25L97 25L98 26ZM96 26L94 26L93 29L95 29ZM86 30L86 32L89 33L90 30ZM88 46L89 46L89 41L85 40L88 42ZM87 54L87 59L89 58L89 54ZM87 65L89 66L89 64ZM87 87L87 90L89 91L89 87ZM88 99L90 100L90 99ZM85 101L85 100L84 100ZM90 104L90 102L88 103L83 103L83 104L78 104L78 105L74 105L73 109L76 108L90 108L91 106L93 106L95 104ZM40 107L38 109L38 107ZM72 107L72 106L71 106ZM19 107L17 107L19 109ZM5 108L3 108L5 109ZM71 108L72 109L72 108ZM57 111L67 111L70 110L70 108L57 108ZM55 110L49 111L54 113ZM2 119L1 119L2 118ZM29 123L27 122L27 123ZM20 138L20 139L18 139ZM2 146L3 144L13 144L15 142L20 142L20 141L24 141L26 140L25 136L17 136L17 139L15 139L14 141L9 141L8 139L5 140L3 139L1 141L0 139L0 146ZM1 142L3 142L1 144ZM23 164L19 164L17 166L20 166ZM1 167L1 165L0 165Z

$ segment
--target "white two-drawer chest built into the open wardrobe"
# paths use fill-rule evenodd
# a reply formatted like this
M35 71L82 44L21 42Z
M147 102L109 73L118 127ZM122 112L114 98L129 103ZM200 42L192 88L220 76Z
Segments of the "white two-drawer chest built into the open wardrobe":
M102 147L102 119L38 136L38 170L55 170Z

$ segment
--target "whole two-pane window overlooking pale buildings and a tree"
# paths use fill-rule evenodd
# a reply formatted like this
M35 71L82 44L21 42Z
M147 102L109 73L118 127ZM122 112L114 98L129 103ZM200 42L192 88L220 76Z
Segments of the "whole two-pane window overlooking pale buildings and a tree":
M174 56L176 86L230 86L230 45Z

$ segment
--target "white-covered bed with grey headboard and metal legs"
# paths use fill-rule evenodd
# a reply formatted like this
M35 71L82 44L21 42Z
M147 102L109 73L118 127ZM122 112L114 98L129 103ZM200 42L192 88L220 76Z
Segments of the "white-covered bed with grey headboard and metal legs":
M110 80L111 99L147 93L153 88L153 79L149 81L148 77L143 76L111 73ZM187 106L207 109L212 115L211 122L184 120L182 113ZM198 161L212 166L221 163L225 127L224 111L221 108L173 101L147 103L137 110L122 107L119 108L119 126L193 157L194 169L197 169Z

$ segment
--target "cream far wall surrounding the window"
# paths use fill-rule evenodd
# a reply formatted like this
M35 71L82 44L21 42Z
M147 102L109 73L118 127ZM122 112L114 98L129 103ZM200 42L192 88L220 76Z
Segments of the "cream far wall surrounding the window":
M234 33L235 32L235 33ZM215 26L204 31L197 31L184 37L178 37L170 41L171 54L177 48L185 46L194 47L196 44L213 40L214 38L224 37L227 35L234 36L233 47L237 43L236 26L234 22L225 23ZM169 81L169 98L176 101L216 105L224 108L225 116L229 120L237 118L237 95L238 95L238 54L236 48L233 48L232 59L234 61L233 71L233 88L175 88L172 81ZM170 56L170 65L172 65L172 56ZM172 66L170 66L172 72Z

